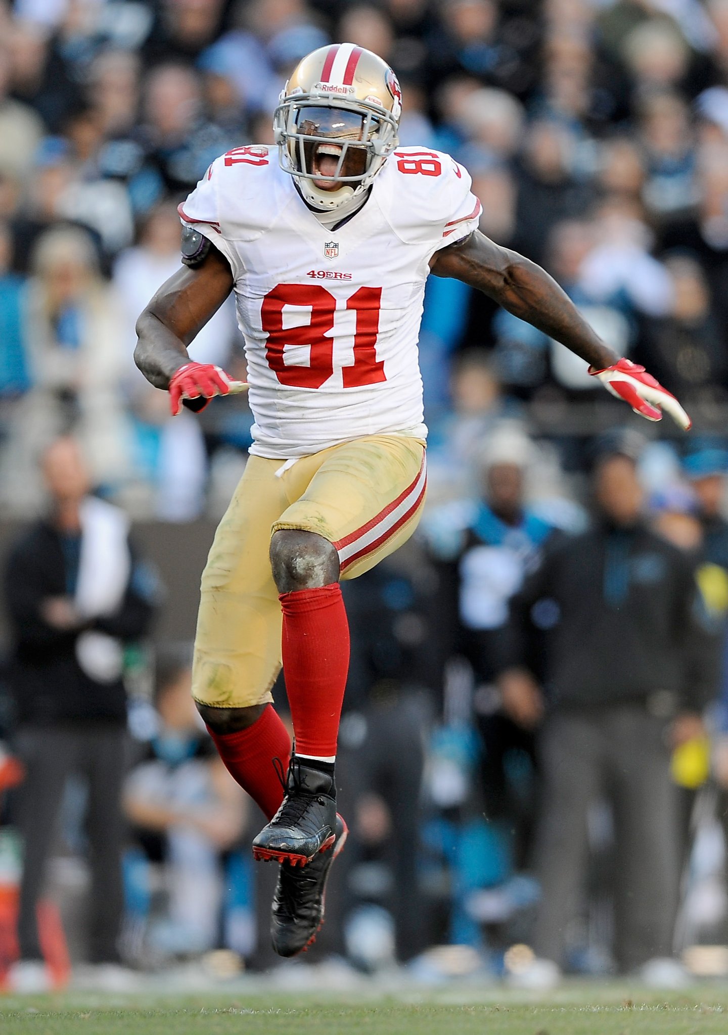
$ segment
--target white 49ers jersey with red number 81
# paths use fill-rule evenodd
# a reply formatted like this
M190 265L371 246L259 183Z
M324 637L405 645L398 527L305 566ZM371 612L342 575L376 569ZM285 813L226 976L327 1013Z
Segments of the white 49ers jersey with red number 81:
M429 262L481 214L462 166L399 148L366 204L327 230L273 148L238 147L179 213L235 278L251 452L288 460L363 435L427 435L417 338Z

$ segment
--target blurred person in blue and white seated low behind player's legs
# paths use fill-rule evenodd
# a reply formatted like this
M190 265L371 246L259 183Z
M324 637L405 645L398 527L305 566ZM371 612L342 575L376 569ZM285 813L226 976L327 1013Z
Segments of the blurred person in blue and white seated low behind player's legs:
M156 682L158 724L126 778L124 811L143 858L163 866L167 909L148 940L165 955L188 955L219 944L224 854L242 833L244 795L197 714L190 659L163 655Z

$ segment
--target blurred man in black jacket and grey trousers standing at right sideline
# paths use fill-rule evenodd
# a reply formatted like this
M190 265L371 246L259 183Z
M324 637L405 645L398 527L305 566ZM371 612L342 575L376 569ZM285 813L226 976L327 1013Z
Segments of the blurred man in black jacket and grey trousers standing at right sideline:
M599 456L593 494L594 527L548 555L514 598L512 664L499 680L503 706L521 726L536 724L547 709L537 959L522 978L551 984L567 962L588 810L606 794L620 860L615 957L624 972L641 969L672 985L680 979L670 959L679 828L670 749L686 730L693 735L717 687L700 649L694 562L645 525L629 445ZM541 685L527 667L534 628L547 631Z

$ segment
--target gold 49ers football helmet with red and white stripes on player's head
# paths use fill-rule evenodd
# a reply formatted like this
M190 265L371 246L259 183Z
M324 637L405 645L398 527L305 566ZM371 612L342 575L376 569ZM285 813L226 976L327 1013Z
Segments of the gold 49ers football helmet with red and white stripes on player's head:
M402 93L391 68L354 43L309 54L273 115L281 168L304 200L333 210L363 194L398 145Z

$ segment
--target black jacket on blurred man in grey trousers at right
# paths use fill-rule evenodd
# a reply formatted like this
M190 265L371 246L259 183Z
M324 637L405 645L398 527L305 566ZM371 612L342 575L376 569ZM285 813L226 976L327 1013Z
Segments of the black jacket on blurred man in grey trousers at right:
M716 658L694 567L643 524L563 540L512 601L503 668L523 664L530 633L546 629L552 706L702 708L716 692Z

